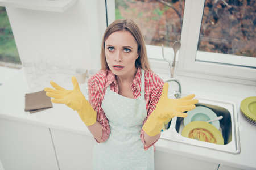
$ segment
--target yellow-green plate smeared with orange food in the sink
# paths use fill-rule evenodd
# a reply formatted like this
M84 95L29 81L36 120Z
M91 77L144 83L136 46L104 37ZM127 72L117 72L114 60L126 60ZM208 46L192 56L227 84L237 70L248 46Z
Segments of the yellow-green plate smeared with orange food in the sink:
M181 135L199 141L224 145L224 139L221 132L212 124L204 121L190 122L184 127Z

